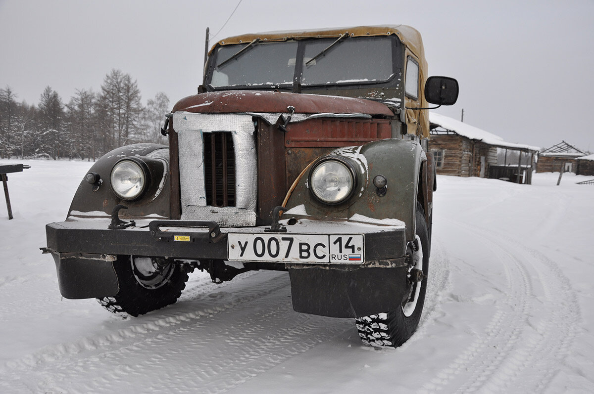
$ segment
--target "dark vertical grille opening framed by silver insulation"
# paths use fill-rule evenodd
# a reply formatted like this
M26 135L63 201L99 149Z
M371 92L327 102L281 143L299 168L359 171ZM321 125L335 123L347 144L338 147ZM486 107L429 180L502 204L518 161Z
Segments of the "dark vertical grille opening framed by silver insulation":
M206 205L235 206L235 148L230 132L204 133Z

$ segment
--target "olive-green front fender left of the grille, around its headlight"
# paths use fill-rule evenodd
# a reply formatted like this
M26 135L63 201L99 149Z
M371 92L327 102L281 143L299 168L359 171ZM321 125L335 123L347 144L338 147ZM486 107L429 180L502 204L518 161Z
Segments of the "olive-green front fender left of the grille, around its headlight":
M136 157L150 163L149 185L136 201L119 198L111 188L111 170L117 161L125 157ZM72 199L68 218L109 216L118 204L128 206L128 209L121 211L120 216L124 218L143 218L147 215L170 218L169 149L165 145L134 144L116 148L99 158L88 172L99 174L99 188L93 191L96 186L83 179Z

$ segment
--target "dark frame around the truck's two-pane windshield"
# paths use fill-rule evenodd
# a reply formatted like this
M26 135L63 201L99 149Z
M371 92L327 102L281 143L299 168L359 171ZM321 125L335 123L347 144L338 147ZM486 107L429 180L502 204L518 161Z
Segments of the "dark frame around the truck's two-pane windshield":
M326 82L323 84L307 84L302 82L303 78L303 68L304 68L304 55L305 55L305 47L309 42L317 42L321 39L331 39L336 40L336 37L333 39L331 37L320 37L318 38L307 38L307 39L286 39L282 40L282 42L290 42L296 41L297 42L297 50L296 50L296 57L295 57L295 68L293 74L293 81L292 82L285 82L285 83L274 83L274 84L246 84L246 85L225 85L225 86L213 86L211 81L213 80L214 70L218 66L217 64L217 55L219 54L218 49L221 47L217 45L211 51L211 54L208 56L208 61L206 65L206 72L204 73L204 86L206 87L207 91L225 91L225 90L288 90L294 91L296 93L301 93L301 90L320 90L324 88L341 88L341 89L349 89L349 88L361 88L361 87L369 87L370 85L389 85L389 87L394 87L394 80L397 78L401 78L403 71L403 59L404 59L404 45L397 36L391 34L390 36L368 36L368 37L346 37L344 40L340 40L337 42L336 45L333 46L332 49L335 47L340 47L342 43L348 40L357 40L357 39L369 39L377 37L388 37L391 41L391 61L392 61L392 72L390 76L383 80L371 80L371 81L364 81L364 80L352 80L352 81L337 81L337 82ZM266 45L267 43L274 43L279 42L280 40L260 40L255 45ZM233 44L233 46L237 46L238 49L241 49L241 45ZM243 45L245 46L245 44ZM331 53L331 49L328 50L328 53ZM236 56L236 58L241 59L241 54ZM325 56L325 54L324 54Z

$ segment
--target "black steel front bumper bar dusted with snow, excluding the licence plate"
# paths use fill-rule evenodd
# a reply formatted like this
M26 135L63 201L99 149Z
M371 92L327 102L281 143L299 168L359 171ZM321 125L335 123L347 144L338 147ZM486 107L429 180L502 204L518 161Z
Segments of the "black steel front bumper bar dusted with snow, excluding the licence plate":
M48 249L58 253L97 255L167 256L175 259L228 260L228 233L271 234L260 227L192 227L198 222L181 220L139 221L137 227L109 230L109 220L64 221L46 225ZM204 222L216 225L213 222ZM283 221L282 221L283 223ZM286 221L285 223L286 224ZM347 225L345 225L347 224ZM140 226L146 227L141 228ZM364 265L405 255L405 227L352 221L298 221L286 225L286 234L363 234ZM211 234L215 232L215 236ZM295 265L296 263L287 263Z

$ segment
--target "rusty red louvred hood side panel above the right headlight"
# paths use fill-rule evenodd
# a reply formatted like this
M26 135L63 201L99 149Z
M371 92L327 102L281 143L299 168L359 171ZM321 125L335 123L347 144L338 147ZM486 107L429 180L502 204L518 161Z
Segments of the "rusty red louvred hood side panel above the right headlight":
M285 146L352 147L391 138L391 134L390 120L386 119L310 119L287 126Z

